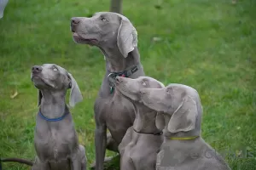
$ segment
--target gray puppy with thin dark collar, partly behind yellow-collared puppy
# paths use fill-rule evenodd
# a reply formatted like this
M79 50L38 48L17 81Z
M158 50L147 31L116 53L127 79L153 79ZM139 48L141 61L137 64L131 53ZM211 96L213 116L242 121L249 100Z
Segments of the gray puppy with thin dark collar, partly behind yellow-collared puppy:
M163 143L162 131L156 126L157 111L140 102L142 88L164 88L151 77L137 79L116 77L117 91L132 100L136 108L133 127L125 133L119 144L121 170L155 170L157 152Z

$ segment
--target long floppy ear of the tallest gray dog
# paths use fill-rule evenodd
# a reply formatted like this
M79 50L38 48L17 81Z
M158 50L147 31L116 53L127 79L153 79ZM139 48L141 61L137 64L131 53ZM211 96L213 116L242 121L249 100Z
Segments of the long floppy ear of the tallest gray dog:
M137 31L130 20L120 15L121 24L117 36L117 45L120 53L126 58L137 47Z

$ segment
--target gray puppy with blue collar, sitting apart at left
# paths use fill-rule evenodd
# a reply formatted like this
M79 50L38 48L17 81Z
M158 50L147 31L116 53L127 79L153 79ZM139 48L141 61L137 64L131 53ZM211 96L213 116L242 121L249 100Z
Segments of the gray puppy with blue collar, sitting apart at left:
M38 88L38 116L34 134L37 153L32 170L85 170L84 146L79 145L65 96L71 88L73 107L83 97L73 76L54 64L32 67L32 82Z

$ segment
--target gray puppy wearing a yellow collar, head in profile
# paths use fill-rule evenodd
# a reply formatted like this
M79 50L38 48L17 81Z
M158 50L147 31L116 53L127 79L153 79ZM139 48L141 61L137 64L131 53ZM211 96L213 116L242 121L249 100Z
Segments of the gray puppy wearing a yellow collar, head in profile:
M157 170L230 169L222 156L201 138L201 99L194 88L170 84L166 88L142 88L138 96L143 105L160 113L156 123L165 128Z

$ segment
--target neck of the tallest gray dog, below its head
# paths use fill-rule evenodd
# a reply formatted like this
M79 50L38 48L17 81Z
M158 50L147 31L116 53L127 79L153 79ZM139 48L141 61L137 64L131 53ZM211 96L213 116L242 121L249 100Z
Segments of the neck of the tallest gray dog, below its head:
M105 56L106 70L108 72L121 72L127 70L132 65L140 64L140 54L137 47L126 58L120 53L116 44L100 49Z

